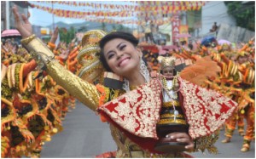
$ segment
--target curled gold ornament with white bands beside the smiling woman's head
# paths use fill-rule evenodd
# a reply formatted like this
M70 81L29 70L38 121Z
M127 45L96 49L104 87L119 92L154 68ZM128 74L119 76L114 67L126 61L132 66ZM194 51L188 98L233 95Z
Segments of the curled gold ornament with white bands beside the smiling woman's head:
M79 64L83 65L77 75L87 82L95 82L103 77L103 65L99 60L100 48L98 46L102 37L107 33L101 30L91 30L84 33L82 45L77 56Z

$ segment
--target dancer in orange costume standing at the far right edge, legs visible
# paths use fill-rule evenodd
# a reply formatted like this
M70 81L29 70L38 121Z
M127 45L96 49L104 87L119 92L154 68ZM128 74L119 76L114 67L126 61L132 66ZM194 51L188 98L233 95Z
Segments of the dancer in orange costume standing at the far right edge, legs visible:
M247 129L241 148L241 151L243 152L249 150L254 131L254 69L253 63L248 62L248 54L244 51L247 49L245 46L238 51L236 59L237 64L232 61L229 61L228 63L226 62L228 65L226 65L225 74L235 74L237 71L236 79L238 78L240 81L235 82L236 84L234 84L234 87L231 87L230 89L236 92L236 101L238 102L239 106L237 108L237 114L230 118L230 121L226 124L226 139L222 141L223 143L230 142L232 134L236 128L237 119L240 119L240 122L238 122L239 133L244 132L243 118L245 117L247 121ZM227 61L224 58L224 54L222 54L222 57L224 61Z

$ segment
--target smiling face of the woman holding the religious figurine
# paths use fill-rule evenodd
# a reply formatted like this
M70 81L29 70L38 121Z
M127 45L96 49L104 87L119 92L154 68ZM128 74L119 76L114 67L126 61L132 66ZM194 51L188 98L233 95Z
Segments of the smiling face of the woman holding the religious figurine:
M103 53L110 69L119 76L126 77L140 69L142 51L124 39L110 40L105 44Z

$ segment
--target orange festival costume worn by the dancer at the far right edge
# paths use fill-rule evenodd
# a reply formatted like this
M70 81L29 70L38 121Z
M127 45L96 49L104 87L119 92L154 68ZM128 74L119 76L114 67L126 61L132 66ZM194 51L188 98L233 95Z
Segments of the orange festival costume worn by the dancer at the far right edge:
M239 52L238 56L244 56L244 52ZM253 139L254 130L254 99L250 95L254 94L254 70L250 65L241 64L238 65L234 61L227 60L224 54L221 54L223 63L224 73L223 77L233 77L232 84L230 85L230 93L233 94L233 98L236 99L238 107L236 109L236 114L230 118L226 123L225 136L223 142L230 142L230 138L236 128L236 122L238 125L239 133L243 133L243 119L247 120L247 130L244 136L243 148L241 151L249 150L250 141ZM228 64L228 65L227 65ZM238 82L236 82L237 80ZM244 116L244 117L243 117Z

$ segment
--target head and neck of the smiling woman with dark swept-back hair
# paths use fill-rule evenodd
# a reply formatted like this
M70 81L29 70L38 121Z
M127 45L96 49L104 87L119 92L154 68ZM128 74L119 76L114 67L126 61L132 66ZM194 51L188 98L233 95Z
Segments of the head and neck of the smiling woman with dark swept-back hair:
M103 37L100 42L102 64L107 71L125 77L131 86L139 86L149 80L149 74L140 72L142 51L137 48L138 40L130 33L115 31Z

